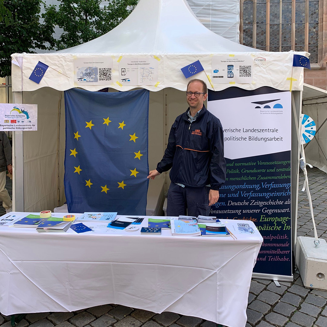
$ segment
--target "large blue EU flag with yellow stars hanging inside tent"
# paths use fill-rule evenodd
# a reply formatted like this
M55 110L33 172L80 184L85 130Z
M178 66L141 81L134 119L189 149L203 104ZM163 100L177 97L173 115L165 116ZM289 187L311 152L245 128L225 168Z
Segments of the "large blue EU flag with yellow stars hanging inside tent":
M65 91L68 212L145 215L149 91Z

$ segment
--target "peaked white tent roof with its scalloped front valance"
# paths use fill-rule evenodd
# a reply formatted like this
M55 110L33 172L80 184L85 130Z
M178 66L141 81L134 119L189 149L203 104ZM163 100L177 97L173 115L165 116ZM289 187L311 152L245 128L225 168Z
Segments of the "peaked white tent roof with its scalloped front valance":
M293 51L260 52L224 39L200 23L186 0L140 0L120 25L92 41L54 53L13 54L13 60L19 65L12 67L12 90L33 91L49 86L63 91L80 86L74 83L74 60L79 57L98 57L104 61L113 59L112 82L108 82L108 85L81 87L90 91L103 87L127 91L136 85L119 85L119 61L136 56L154 57L159 61L157 84L143 85L143 88L151 91L166 87L185 90L187 80L180 69L200 60L204 71L197 74L197 78L207 80L206 75L211 76L214 55L249 55L253 59L265 59L264 64L253 65L254 78L251 83L215 84L216 91L229 86L247 90L261 86L289 90L290 78L293 78L292 89L302 90L303 69L293 67L293 54ZM308 56L306 52L299 54ZM39 84L28 79L38 61L49 66Z

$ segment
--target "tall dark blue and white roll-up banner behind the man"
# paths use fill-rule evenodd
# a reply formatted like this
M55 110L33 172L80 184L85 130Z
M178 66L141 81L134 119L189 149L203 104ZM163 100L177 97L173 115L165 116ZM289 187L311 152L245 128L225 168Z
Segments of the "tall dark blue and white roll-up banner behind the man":
M292 276L291 93L235 88L226 98L225 91L208 101L224 129L227 163L210 215L238 219L242 231L252 220L264 238L253 272Z

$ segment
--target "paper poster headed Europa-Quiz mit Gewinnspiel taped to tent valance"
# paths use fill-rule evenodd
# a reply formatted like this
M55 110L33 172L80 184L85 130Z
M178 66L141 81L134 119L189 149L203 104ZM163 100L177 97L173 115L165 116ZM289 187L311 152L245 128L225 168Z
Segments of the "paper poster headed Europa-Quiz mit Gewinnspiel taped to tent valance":
M78 85L108 85L112 82L113 61L107 56L74 60L74 81Z

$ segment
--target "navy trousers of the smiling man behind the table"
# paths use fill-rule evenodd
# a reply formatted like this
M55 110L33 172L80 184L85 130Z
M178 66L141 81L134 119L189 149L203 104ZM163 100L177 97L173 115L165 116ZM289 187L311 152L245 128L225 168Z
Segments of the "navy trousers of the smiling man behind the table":
M209 186L181 187L171 182L167 198L167 216L208 216L209 191Z

